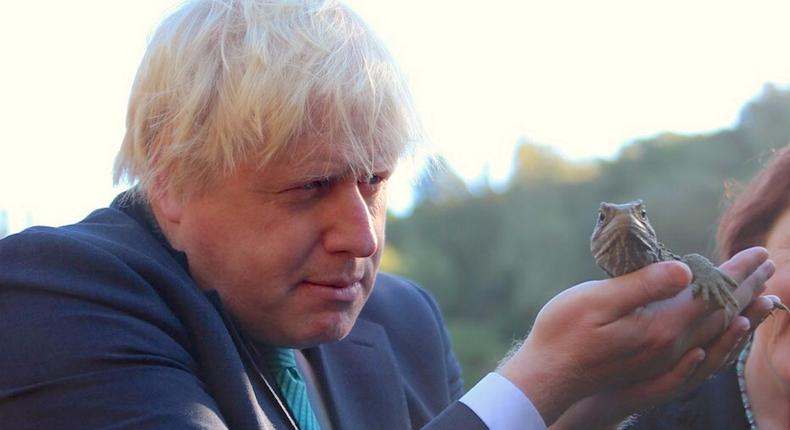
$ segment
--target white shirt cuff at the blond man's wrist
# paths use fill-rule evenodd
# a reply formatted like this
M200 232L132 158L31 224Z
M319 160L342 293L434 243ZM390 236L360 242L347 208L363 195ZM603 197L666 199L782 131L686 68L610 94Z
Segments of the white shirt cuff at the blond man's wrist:
M491 372L463 397L490 430L546 430L546 423L523 391Z

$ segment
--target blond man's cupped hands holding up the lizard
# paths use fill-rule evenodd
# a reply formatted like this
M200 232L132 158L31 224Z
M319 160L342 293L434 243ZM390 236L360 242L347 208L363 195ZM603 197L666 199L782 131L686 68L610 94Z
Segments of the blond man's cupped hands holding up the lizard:
M613 415L620 417L663 400L719 369L739 349L749 321L754 327L768 314L769 300L755 301L773 274L767 259L765 249L751 248L721 266L739 283L733 292L739 310L748 307L747 318L733 321L692 297L686 288L691 273L677 262L577 285L543 307L499 372L524 391L547 424L584 398L616 406ZM627 404L615 403L627 396ZM589 410L580 405L570 418Z

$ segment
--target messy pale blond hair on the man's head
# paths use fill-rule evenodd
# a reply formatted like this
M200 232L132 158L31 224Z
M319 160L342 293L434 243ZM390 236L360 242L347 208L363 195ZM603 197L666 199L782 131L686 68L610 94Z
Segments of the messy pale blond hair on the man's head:
M418 126L394 60L335 0L195 0L165 19L137 71L115 182L179 196L305 133L355 173L397 162ZM362 171L362 172L360 172Z

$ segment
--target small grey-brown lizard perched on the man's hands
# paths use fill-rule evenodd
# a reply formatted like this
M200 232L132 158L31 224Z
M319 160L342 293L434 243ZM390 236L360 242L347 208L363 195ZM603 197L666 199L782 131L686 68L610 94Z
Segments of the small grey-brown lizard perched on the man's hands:
M692 273L691 292L714 302L727 315L739 313L732 291L738 283L700 254L679 256L658 241L642 200L623 204L601 203L590 251L609 277L617 277L659 261L682 261Z

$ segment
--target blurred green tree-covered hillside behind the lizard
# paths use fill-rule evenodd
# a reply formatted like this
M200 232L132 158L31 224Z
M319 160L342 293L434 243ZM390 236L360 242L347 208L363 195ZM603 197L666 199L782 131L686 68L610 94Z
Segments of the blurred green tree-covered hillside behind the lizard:
M790 92L767 85L733 129L638 140L612 161L572 162L522 141L501 192L469 192L439 160L413 213L388 224L387 268L437 297L471 384L551 297L603 277L589 251L601 201L641 198L659 240L712 255L726 184L748 180L788 141Z

